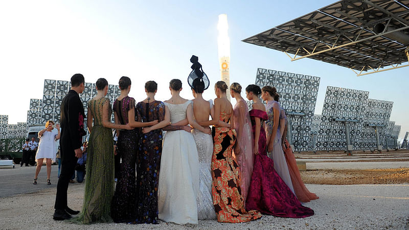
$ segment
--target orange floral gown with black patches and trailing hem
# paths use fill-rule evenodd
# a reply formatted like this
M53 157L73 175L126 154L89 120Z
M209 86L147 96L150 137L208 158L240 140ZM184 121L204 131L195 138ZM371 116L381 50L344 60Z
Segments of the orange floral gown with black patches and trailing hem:
M229 119L221 113L220 120ZM260 212L246 211L240 190L240 169L232 156L236 131L225 127L213 127L212 196L218 222L240 223L259 219Z

